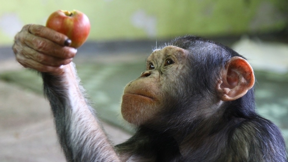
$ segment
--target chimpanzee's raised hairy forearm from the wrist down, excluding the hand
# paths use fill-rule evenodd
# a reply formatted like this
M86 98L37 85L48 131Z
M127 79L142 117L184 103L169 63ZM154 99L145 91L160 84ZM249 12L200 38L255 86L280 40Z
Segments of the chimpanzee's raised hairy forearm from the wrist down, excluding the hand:
M72 63L64 74L42 73L56 132L68 161L120 161L78 83Z

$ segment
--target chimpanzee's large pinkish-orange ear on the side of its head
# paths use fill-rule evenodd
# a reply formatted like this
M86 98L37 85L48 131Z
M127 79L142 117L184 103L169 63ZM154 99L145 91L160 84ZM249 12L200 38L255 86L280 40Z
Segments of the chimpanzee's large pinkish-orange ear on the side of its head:
M254 85L251 65L243 58L235 56L221 70L216 90L222 101L236 100L247 93Z

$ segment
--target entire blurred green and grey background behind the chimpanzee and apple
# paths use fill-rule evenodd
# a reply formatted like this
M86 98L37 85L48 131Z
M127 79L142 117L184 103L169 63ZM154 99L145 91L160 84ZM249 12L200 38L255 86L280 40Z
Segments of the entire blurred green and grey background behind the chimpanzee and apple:
M133 132L120 117L124 86L145 70L156 45L187 34L248 59L257 79L257 111L288 141L287 0L10 0L0 5L0 161L65 161L41 78L16 63L12 44L23 25L45 25L52 12L73 9L91 23L74 62L115 144Z

